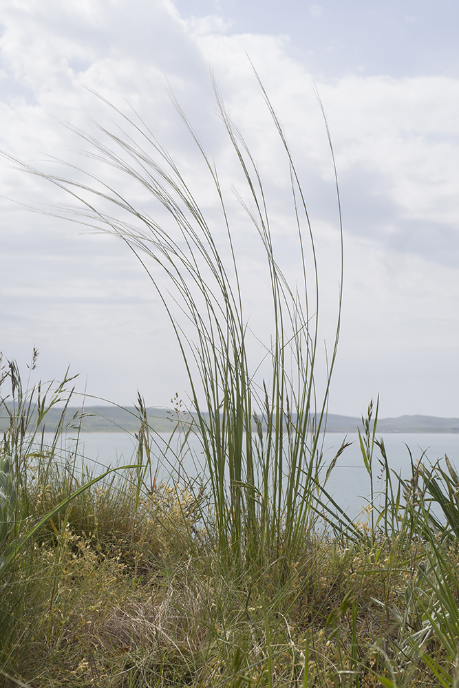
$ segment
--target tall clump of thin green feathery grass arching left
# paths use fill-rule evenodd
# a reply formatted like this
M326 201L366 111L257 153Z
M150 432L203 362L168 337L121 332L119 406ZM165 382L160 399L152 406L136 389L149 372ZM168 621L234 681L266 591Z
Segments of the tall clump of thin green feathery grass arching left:
M339 338L343 231L337 185L341 237L337 323L325 385L317 396L314 373L322 345L318 340L319 270L314 237L288 142L273 105L258 83L290 174L301 257L295 286L288 283L275 256L268 202L253 155L228 116L215 85L214 90L218 114L250 198L246 210L268 266L273 333L266 344L270 361L270 377L266 380L257 379L256 369L248 363L248 314L243 308L230 213L217 169L177 103L220 204L219 240L222 232L226 233L223 252L217 248L214 230L182 173L140 118L129 118L114 108L124 129L109 131L100 127L100 138L81 131L78 134L89 144L92 158L134 180L167 211L170 222L160 224L151 219L131 205L122 191L111 189L103 180L92 183L90 173L87 183L60 175L45 176L81 202L79 221L117 235L134 251L169 315L188 375L193 431L198 432L202 442L210 479L215 524L209 523L208 535L215 539L222 566L240 573L270 568L281 579L284 566L288 570L297 559L314 521L311 506L319 484L321 432ZM325 116L324 121L336 180ZM131 221L107 213L107 203L119 215L127 213ZM148 259L153 261L154 270L149 269ZM158 267L162 272L159 276ZM191 323L192 334L185 334L183 323L176 318L176 304L184 320Z

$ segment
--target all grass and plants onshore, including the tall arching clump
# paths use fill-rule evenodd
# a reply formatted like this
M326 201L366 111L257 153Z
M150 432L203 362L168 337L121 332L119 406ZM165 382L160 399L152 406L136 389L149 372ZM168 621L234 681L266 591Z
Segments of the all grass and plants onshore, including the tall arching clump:
M6 363L0 656L8 686L459 685L458 477L449 460L446 471L412 460L411 475L394 475L370 405L359 438L367 513L354 523L330 499L327 480L346 446L324 473L343 283L339 195L338 316L319 385L312 228L283 130L259 86L290 176L301 257L295 286L275 256L257 166L216 88L215 96L268 268L273 333L263 374L249 364L231 213L180 108L220 202L220 234L167 151L140 119L119 111L125 129L78 133L92 158L134 180L169 219L159 224L90 175L87 183L44 175L81 204L78 222L118 235L151 277L188 376L189 409L173 438L186 449L190 433L198 437L204 466L199 477L171 471L169 482L158 482L159 438L139 397L133 463L94 477L76 462L78 439L60 448L64 413L51 444L42 433L47 411L69 404L72 380L23 387L17 365ZM78 417L72 425L78 438Z

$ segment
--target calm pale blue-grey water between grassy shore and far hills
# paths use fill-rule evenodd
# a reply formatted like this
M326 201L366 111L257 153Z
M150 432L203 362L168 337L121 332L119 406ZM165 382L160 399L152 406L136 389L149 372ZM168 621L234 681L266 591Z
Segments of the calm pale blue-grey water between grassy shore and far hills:
M334 457L343 441L344 434L327 433L323 442L323 464L326 466ZM348 433L348 441L353 444L345 449L334 467L327 484L327 490L334 500L346 510L346 513L355 518L370 498L370 480L363 466L363 460L359 447L357 433ZM378 435L379 438L379 435ZM405 444L411 449L413 459L418 460L425 451L424 462L434 463L439 458L444 459L447 453L449 460L456 470L459 469L459 433L387 433L383 435L389 467L394 469L401 477L411 477L411 464L409 453ZM178 444L175 438L171 442L171 448L167 451L167 443L171 442L171 436L160 434L157 446L153 447L153 454L157 458L166 456L166 465L158 464L158 481L164 479L174 469L186 471L190 475L202 472L202 455L197 438L191 441L191 450L182 452L180 461L176 458ZM66 440L68 448L74 445L72 436ZM64 446L64 449L65 449ZM81 433L78 444L78 455L85 456L85 462L94 468L94 473L101 473L105 466L124 465L136 462L136 442L133 436L124 433ZM377 460L380 455L375 447L374 451L374 492L381 491L383 484L378 482L381 475L381 466ZM164 463L164 458L162 460ZM169 467L167 466L169 462ZM444 461L442 462L445 467ZM153 462L153 470L156 463ZM393 481L394 486L396 481Z

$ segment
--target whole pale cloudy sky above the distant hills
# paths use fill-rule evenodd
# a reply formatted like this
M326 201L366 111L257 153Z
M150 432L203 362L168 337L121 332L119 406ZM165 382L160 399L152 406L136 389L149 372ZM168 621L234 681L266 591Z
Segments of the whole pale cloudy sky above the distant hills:
M458 22L458 4L446 0L3 0L3 356L16 359L26 376L36 346L33 376L61 379L70 366L78 393L122 405L135 402L138 390L148 405L170 405L176 392L186 401L178 346L136 257L116 237L47 214L70 197L11 162L87 180L83 170L168 227L145 189L84 154L90 142L76 133L103 140L98 125L126 129L122 115L138 116L189 180L220 241L217 198L171 93L219 171L244 314L250 332L269 341L263 252L237 201L246 190L211 80L213 74L257 162L279 265L295 284L288 165L255 67L308 204L328 351L337 319L339 224L316 92L332 137L344 281L330 412L360 416L379 394L383 417L459 417ZM254 347L251 355L256 367L261 352ZM322 345L318 361L324 368Z

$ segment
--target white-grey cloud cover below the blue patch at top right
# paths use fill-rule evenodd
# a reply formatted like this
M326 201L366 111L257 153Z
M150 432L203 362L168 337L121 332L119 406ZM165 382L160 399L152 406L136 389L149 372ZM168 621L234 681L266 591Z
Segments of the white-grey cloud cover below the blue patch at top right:
M127 98L173 154L218 238L217 198L171 105L170 87L219 169L235 223L250 325L269 334L257 235L232 187L246 202L250 198L215 116L209 78L213 70L228 113L255 151L279 261L295 281L288 161L248 55L297 164L317 232L323 319L333 321L339 246L332 160L314 74L308 63L292 56L288 36L230 34L220 19L184 21L171 3L159 0L136 0L129 6L124 0L7 0L2 11L0 148L47 170L62 168L54 160L37 162L46 154L89 169L163 219L145 188L94 158L82 158L78 149L86 144L54 118L103 136L91 118L110 129L126 122L83 85L134 116ZM459 80L348 74L315 81L332 133L346 237L343 323L348 324L343 325L342 356L347 368L339 374L343 391L335 396L332 410L359 413L367 403L365 395L374 394L370 382L377 387L381 377L375 370L372 378L368 354L367 384L349 391L365 352L389 352L384 365L399 370L394 361L409 361L407 352L416 348L419 371L420 349L430 356L428 352L459 345L459 304L451 288L458 280L459 257ZM78 171L74 174L83 179ZM167 403L183 378L171 354L167 319L134 257L120 242L84 232L76 237L75 226L29 213L9 200L32 206L68 200L43 180L5 165L0 182L3 349L25 359L37 343L46 370L53 361L62 366L72 362L90 373L93 391L99 386L104 396L129 402L137 387L148 387L150 403ZM409 374L414 376L414 370ZM400 388L393 384L393 393L387 389L386 394L388 407L392 403L394 408ZM424 412L443 413L449 405L451 412L445 415L459 415L452 391L445 391L442 409L439 396L436 409L426 401ZM409 412L408 394L403 398L401 412Z

